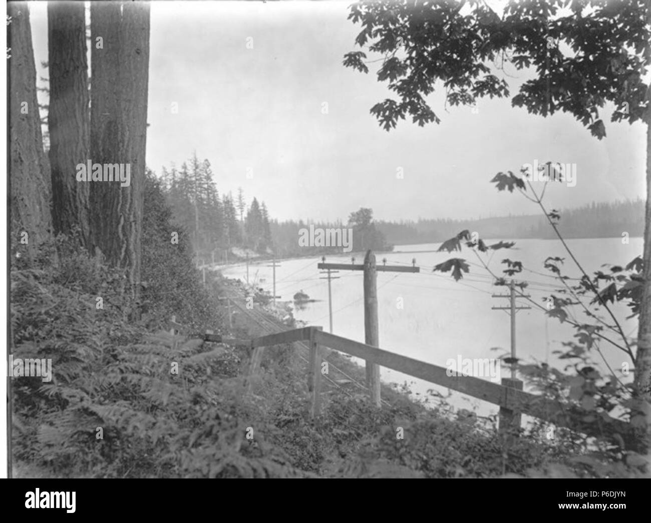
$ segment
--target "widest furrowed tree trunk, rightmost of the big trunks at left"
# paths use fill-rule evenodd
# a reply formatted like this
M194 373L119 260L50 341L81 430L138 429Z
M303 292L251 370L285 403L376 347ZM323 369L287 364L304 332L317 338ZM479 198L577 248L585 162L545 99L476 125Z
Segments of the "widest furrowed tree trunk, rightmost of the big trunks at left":
M128 269L139 298L145 185L149 5L92 2L90 159L128 164L130 185L91 181L90 246L105 261ZM101 40L99 40L101 38Z

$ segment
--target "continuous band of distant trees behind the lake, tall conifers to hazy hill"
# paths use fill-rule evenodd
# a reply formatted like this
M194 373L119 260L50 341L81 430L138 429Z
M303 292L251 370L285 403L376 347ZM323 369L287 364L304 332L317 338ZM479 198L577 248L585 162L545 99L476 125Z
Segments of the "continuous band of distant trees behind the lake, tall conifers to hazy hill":
M210 161L196 154L180 168L161 170L161 189L174 211L174 219L191 235L194 252L206 261L223 260L225 250L249 248L258 254L279 257L342 254L342 247L299 245L301 230L350 228L353 252L391 250L393 245L435 243L460 230L477 231L482 237L503 239L555 237L544 217L503 216L476 220L419 219L418 221L374 221L373 211L360 208L348 221L336 222L272 219L264 202L257 198L247 205L242 188L237 196L219 194ZM559 230L566 238L631 237L643 235L644 201L596 203L561 211Z

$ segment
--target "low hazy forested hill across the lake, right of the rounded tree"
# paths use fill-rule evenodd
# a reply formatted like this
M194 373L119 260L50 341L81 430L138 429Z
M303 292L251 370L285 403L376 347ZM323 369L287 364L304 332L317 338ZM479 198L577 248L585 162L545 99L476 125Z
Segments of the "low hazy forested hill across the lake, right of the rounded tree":
M550 209L551 210L551 209ZM644 200L594 203L561 211L559 230L564 238L641 236L644 232ZM419 219L419 221L376 221L388 243L434 243L467 229L482 237L500 239L540 238L556 235L542 215L504 216L477 220Z

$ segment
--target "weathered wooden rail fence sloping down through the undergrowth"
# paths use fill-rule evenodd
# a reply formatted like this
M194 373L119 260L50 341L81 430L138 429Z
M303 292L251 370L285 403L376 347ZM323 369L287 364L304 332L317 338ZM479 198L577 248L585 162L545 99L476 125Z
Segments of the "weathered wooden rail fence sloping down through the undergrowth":
M502 379L502 384L493 383L473 376L449 376L447 369L430 363L421 362L408 356L391 353L365 343L355 342L335 334L323 332L322 327L303 327L286 330L278 334L269 334L255 338L247 344L254 349L251 373L256 373L262 350L271 345L292 342L309 342L309 391L311 392L310 412L318 416L321 412L321 351L320 347L329 347L342 353L362 358L372 364L393 369L409 376L420 378L440 386L473 396L494 405L499 405L499 430L506 432L519 427L521 414L528 414L558 427L567 427L579 433L596 438L632 442L633 430L629 423L616 420L605 412L594 413L594 420L585 420L587 412L578 408L568 408L558 401L543 396L524 392L522 382L514 379ZM616 436L617 435L617 436ZM627 444L628 446L628 444Z

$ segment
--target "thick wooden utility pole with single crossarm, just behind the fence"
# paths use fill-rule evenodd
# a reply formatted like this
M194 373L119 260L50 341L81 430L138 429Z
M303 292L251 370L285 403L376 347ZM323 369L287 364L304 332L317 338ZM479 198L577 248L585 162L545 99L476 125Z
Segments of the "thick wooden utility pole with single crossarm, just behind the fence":
M318 269L339 269L342 271L364 271L364 334L365 343L373 347L380 347L380 332L378 329L378 288L377 276L380 272L419 273L416 260L412 260L413 267L398 267L395 265L376 265L375 254L369 249L364 258L363 265L348 263L319 263ZM376 407L380 407L380 366L366 362L367 387L370 398Z

